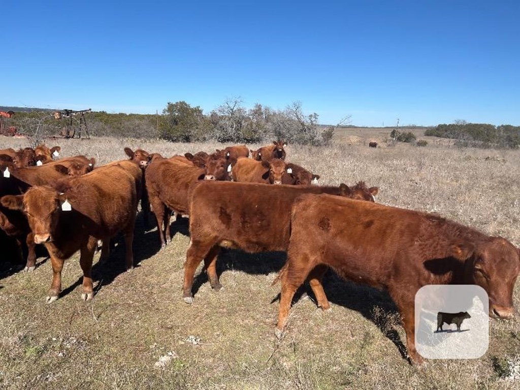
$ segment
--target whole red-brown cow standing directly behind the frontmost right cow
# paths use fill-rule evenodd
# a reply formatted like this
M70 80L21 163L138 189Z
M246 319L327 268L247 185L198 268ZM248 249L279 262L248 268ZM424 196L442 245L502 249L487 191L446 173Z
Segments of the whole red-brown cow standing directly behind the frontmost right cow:
M305 193L330 193L373 201L377 187L270 186L253 183L204 182L190 197L191 243L184 268L183 297L192 303L191 288L197 266L204 265L211 287L220 289L216 257L220 246L245 252L285 251L289 244L291 206Z

